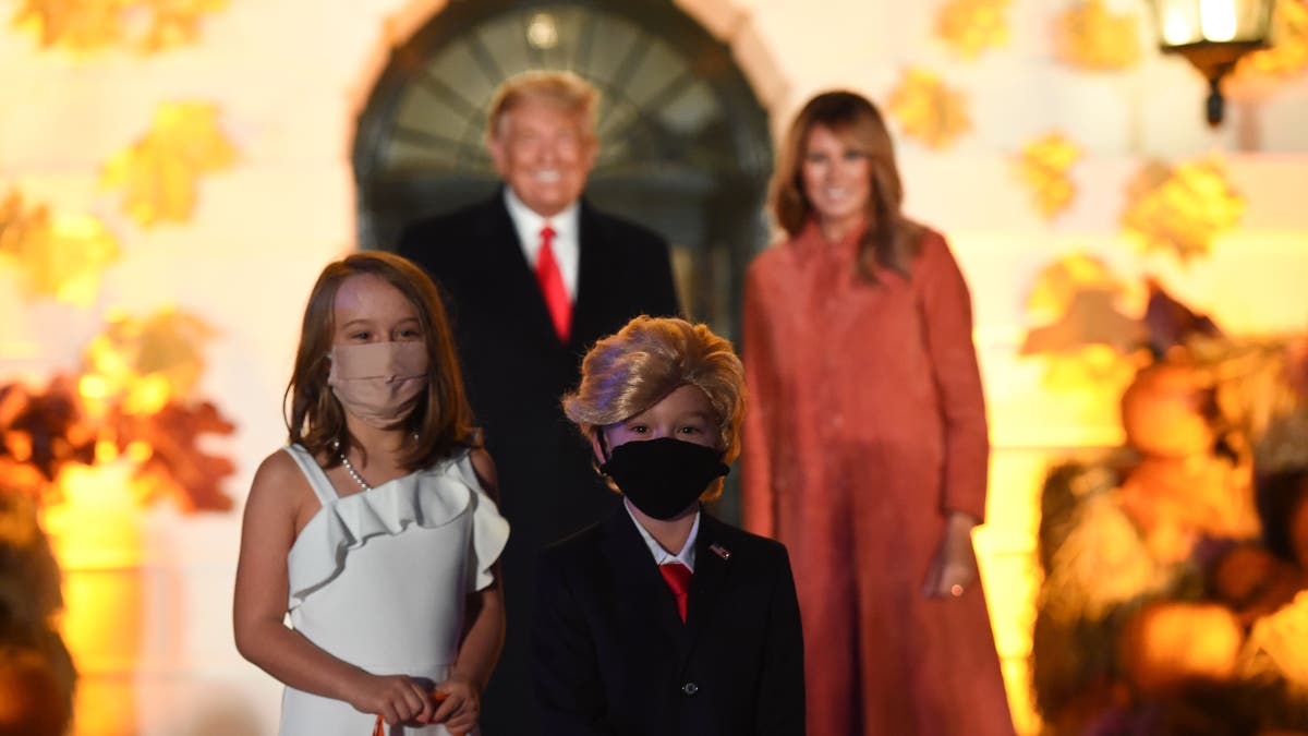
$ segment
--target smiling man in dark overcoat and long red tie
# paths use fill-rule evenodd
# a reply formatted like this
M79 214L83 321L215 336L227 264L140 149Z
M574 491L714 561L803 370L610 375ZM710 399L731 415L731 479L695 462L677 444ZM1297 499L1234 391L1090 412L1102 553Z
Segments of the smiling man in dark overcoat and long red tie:
M505 648L484 697L483 736L536 732L527 673L532 571L545 545L615 506L559 407L581 354L636 314L675 314L667 244L581 199L596 155L595 92L576 75L510 79L488 145L506 186L405 229L398 251L447 300L464 385L500 475Z

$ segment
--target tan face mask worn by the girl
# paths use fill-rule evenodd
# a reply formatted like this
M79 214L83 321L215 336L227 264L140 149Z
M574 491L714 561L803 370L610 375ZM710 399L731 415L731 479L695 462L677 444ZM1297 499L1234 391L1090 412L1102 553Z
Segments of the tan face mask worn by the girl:
M327 385L365 424L388 430L417 405L426 388L426 343L373 342L332 346Z

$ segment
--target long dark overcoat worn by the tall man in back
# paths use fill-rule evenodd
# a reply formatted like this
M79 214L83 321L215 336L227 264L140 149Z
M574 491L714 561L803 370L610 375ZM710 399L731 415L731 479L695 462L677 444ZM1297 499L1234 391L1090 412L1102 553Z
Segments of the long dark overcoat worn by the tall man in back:
M504 553L505 648L484 697L483 736L536 732L527 672L531 575L545 545L602 519L617 496L591 468L591 452L564 416L581 358L637 314L678 314L667 244L638 225L596 212L578 216L579 263L572 335L555 334L536 276L523 257L504 191L420 221L398 253L441 287L467 389L500 477L509 520Z

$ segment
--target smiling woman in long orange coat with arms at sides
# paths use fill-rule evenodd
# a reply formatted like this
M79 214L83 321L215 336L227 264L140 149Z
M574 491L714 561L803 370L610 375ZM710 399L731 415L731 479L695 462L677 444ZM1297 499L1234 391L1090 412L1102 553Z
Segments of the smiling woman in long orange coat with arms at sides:
M790 549L808 736L1011 735L971 540L989 454L971 297L901 199L871 102L811 100L773 182L790 240L746 282L744 525Z

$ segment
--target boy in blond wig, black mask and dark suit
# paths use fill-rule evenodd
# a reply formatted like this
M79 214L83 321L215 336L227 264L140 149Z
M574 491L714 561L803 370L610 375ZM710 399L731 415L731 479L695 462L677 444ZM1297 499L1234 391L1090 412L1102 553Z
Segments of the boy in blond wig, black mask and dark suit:
M633 320L565 411L623 508L540 557L532 677L545 736L802 736L786 549L709 516L740 452L743 372L704 325Z

